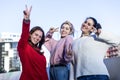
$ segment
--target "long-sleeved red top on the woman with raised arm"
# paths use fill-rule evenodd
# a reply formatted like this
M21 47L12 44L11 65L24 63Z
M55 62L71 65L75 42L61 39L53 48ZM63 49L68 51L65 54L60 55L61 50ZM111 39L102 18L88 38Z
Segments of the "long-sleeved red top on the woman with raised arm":
M45 56L38 53L29 43L30 20L23 20L18 52L22 63L20 80L48 80Z

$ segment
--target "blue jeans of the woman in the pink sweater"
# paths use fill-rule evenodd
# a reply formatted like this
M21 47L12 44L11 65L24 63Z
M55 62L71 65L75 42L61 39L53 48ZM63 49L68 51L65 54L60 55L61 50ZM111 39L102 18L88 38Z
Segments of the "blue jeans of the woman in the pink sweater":
M50 80L69 80L67 66L50 67Z

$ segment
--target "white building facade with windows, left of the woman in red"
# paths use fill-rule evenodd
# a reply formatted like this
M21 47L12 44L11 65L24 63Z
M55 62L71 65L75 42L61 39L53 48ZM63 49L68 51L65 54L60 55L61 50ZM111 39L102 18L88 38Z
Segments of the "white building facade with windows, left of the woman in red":
M20 34L0 33L0 69L3 72L20 70L17 44Z

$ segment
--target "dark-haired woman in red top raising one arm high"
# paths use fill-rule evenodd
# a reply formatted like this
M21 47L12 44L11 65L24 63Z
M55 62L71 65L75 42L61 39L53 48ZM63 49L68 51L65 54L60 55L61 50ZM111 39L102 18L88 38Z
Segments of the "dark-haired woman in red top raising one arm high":
M45 41L44 31L35 26L30 32L30 10L24 11L22 34L18 42L18 53L22 63L20 80L48 80L46 72L46 59L41 52L41 46Z

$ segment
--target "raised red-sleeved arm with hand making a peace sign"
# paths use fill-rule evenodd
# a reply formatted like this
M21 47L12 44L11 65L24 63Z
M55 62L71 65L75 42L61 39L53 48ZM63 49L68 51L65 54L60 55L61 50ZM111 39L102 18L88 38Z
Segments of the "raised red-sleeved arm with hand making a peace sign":
M24 50L26 44L28 43L28 38L29 38L29 29L30 29L30 12L31 12L32 7L28 10L27 6L26 9L24 10L24 19L22 23L22 33L21 33L21 38L18 42L18 51L22 53L21 51Z

